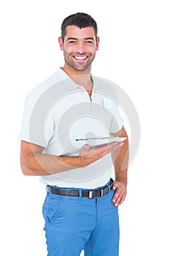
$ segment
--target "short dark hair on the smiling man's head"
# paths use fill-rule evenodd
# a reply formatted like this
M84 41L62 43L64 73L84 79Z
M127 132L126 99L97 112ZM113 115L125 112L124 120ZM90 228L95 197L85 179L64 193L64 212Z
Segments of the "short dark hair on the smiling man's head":
M63 20L63 23L61 24L62 39L64 39L66 35L66 27L72 25L77 26L80 29L92 26L94 29L95 36L97 38L98 29L96 21L90 15L84 12L77 12L75 14L69 15Z

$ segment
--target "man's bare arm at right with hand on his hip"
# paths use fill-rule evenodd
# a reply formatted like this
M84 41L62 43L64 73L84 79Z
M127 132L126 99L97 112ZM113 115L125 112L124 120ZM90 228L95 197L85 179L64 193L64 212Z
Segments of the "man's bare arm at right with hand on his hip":
M115 183L113 189L115 190L115 195L112 202L115 206L120 206L125 200L127 194L127 174L128 174L128 135L123 127L117 133L112 133L112 136L126 137L127 139L123 141L124 145L117 150L112 151L112 161L115 167Z

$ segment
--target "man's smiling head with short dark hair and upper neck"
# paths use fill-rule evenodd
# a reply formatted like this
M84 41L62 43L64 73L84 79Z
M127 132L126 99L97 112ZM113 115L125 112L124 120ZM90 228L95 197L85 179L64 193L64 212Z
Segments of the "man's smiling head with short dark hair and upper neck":
M65 60L63 70L90 73L99 42L96 21L90 15L78 12L65 18L58 42Z

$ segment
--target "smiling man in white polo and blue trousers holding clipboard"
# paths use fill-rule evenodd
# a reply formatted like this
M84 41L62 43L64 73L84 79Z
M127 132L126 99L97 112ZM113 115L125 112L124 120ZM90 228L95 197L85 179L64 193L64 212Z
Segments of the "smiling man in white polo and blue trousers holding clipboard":
M128 135L115 89L90 74L99 44L96 21L85 13L70 15L58 41L63 67L26 99L21 168L47 184L43 215L48 255L78 256L84 249L86 256L117 256L117 207L126 195ZM102 145L101 137L110 135L127 139ZM96 146L88 145L88 138Z

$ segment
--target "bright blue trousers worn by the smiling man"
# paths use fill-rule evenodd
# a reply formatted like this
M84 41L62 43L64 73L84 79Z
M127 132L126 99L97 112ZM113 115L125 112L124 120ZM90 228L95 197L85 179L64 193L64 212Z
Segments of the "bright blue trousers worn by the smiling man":
M114 190L98 198L53 195L43 204L47 256L118 256L118 208Z

